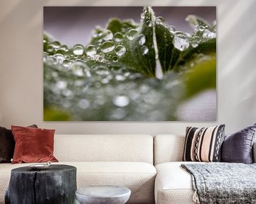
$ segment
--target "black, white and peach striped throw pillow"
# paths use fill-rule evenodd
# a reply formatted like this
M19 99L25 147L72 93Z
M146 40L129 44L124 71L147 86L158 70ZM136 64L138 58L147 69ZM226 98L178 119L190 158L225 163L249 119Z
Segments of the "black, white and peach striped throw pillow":
M225 125L209 128L186 128L183 161L219 162Z

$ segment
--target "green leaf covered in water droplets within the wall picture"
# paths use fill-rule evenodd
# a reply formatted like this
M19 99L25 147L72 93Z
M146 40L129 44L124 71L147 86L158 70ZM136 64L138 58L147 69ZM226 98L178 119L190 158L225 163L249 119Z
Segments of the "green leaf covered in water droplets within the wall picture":
M176 120L181 101L216 87L216 24L186 21L193 33L145 6L139 23L95 25L89 45L43 35L44 120Z

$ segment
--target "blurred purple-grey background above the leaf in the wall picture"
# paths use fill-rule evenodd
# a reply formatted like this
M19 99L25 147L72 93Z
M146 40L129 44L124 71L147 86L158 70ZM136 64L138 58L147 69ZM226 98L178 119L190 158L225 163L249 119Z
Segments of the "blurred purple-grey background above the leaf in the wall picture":
M60 42L73 46L87 45L95 26L105 27L109 18L132 18L140 21L142 6L45 6L43 8L43 29ZM216 19L215 6L153 6L156 16L163 16L166 23L176 30L192 32L185 21L194 14L212 22Z

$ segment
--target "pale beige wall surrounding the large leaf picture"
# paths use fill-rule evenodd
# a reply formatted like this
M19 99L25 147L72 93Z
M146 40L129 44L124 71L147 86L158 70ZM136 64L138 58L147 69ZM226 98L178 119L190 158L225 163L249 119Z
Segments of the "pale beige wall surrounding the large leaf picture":
M233 132L256 123L256 1L0 2L0 126L37 124L58 134L185 132L187 125L224 123ZM149 3L150 2L150 3ZM43 6L217 6L218 120L216 123L43 122Z

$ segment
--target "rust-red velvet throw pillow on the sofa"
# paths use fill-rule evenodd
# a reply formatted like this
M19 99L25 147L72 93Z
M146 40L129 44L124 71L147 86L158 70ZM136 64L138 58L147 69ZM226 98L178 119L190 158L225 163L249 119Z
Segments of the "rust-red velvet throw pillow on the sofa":
M55 130L11 126L16 142L12 164L28 162L58 162L53 156Z

